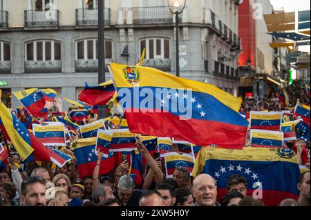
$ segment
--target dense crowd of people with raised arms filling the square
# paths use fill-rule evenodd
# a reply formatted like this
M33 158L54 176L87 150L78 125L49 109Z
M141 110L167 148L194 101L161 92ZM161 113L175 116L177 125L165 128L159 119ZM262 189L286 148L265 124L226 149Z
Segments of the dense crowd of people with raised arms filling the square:
M297 99L301 103L310 102L304 86L289 86L286 92L290 97L289 106L279 101L280 92L270 92L262 100L245 98L241 112L289 110L296 105ZM59 112L56 106L49 111L51 121L53 112ZM27 117L21 111L19 120L26 121ZM88 119L79 124L96 120L96 115L90 112ZM113 125L113 129L119 128L120 125ZM192 177L187 168L177 167L173 177L167 178L161 159L147 150L140 137L135 147L146 161L140 186L129 175L129 161L123 159L121 152L115 168L100 176L100 165L105 161L102 159L103 152L97 150L94 152L97 163L93 176L80 178L77 155L70 147L75 139L81 138L79 133L76 134L62 149L71 160L59 168L51 162L21 161L15 146L5 140L0 132L2 146L10 150L6 157L7 166L5 163L0 166L0 206L265 206L261 199L247 195L247 179L239 174L227 179L227 194L218 200L216 182L209 174ZM246 138L245 147L249 147L249 132ZM283 148L292 149L297 163L310 169L310 141L286 141ZM173 145L173 151L179 152L178 146ZM297 188L299 199L285 199L279 206L310 206L310 171L301 174Z

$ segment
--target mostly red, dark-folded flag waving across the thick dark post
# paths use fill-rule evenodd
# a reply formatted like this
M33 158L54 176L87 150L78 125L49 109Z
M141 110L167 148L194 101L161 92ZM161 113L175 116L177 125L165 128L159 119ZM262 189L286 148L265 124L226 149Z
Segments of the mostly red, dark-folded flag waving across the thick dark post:
M98 86L88 86L88 83L85 83L84 90L80 92L78 99L91 105L106 105L113 94L115 94L115 88L112 80Z

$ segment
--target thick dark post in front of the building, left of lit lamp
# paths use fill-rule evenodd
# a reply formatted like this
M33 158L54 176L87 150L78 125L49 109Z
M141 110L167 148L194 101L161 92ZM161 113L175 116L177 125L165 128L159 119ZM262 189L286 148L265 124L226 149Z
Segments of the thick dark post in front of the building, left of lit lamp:
M104 44L104 0L97 0L98 10L98 84L106 81ZM106 106L98 106L98 119L106 117Z

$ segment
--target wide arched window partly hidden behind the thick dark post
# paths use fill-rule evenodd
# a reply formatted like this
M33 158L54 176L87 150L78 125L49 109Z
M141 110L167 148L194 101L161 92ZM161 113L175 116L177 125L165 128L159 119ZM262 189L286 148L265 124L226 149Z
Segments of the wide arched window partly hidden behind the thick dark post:
M76 59L98 59L97 39L84 39L76 43ZM112 41L105 39L105 57L112 59Z

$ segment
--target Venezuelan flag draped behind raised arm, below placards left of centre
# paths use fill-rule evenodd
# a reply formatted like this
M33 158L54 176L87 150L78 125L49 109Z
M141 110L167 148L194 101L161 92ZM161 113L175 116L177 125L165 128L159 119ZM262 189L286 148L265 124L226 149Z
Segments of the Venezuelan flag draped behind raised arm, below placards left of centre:
M86 176L93 177L97 163L95 146L96 137L78 139L73 141L71 145L71 150L77 158L77 169L80 179ZM115 156L113 153L110 153L109 157L102 159L102 163L100 163L100 176L108 174L113 168L115 168Z

